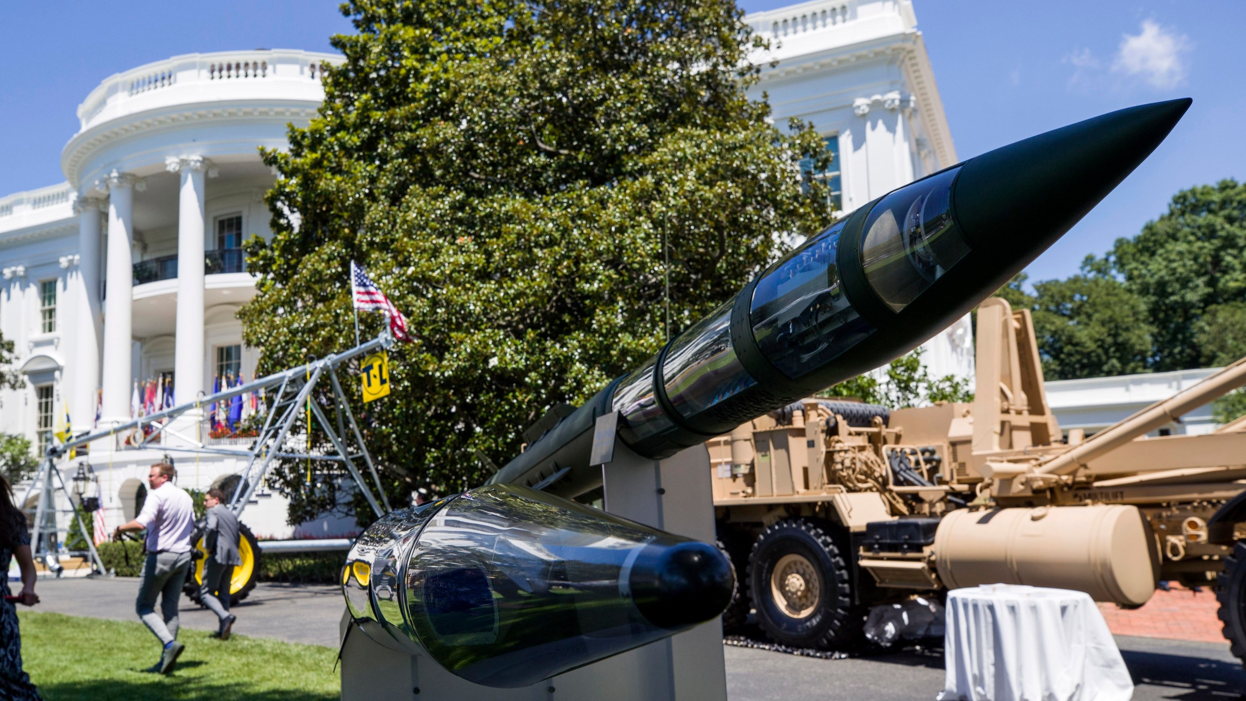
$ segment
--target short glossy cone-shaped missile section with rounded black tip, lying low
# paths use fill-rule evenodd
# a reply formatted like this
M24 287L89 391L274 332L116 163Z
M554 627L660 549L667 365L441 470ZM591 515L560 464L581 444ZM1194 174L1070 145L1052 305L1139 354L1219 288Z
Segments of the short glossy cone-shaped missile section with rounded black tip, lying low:
M378 520L341 586L376 642L520 687L719 616L735 573L713 545L496 484Z

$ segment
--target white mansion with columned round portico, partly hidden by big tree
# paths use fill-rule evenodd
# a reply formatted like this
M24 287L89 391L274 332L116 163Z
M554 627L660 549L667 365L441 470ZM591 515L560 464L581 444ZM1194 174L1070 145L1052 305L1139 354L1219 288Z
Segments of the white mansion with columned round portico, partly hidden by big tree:
M758 59L778 60L755 95L769 96L776 123L814 123L836 155L822 173L835 208L957 161L908 0L814 1L746 21L771 41ZM235 313L255 292L240 243L270 236L263 195L274 175L257 147L287 147L287 125L315 115L323 66L338 61L189 54L107 77L86 96L61 155L65 182L0 196L0 331L25 378L0 392L0 432L41 447L66 409L76 432L107 428L145 410L147 393L186 403L222 378L253 377L258 349L243 346ZM932 374L972 378L968 318L928 343L925 360ZM176 428L212 440L206 418ZM147 467L163 457L115 449L122 438L70 467L98 476L108 528L133 518ZM178 483L197 489L238 471L221 457L183 455L177 467ZM274 495L243 520L260 536L294 533ZM325 536L349 525L300 528Z

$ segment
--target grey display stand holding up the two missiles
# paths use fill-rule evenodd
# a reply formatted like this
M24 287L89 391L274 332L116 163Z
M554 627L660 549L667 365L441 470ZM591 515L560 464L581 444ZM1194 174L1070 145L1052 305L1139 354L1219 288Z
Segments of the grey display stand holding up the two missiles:
M602 465L606 511L678 535L714 543L709 452L688 448L665 460L640 458L614 439ZM725 701L719 619L672 637L521 689L465 681L424 655L374 642L341 621L343 701Z

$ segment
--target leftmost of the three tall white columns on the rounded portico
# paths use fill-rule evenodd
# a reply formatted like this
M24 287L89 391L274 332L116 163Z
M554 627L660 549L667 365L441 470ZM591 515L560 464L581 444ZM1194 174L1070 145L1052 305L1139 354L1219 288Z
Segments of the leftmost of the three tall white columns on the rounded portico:
M95 425L96 390L100 389L100 210L103 201L78 197L77 274L69 278L75 323L74 384L70 418L75 430Z

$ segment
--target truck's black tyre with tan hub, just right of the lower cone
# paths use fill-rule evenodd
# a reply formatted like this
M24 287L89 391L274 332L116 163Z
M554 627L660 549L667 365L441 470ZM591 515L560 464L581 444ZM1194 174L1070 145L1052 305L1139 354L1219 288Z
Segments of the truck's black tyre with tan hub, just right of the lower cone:
M852 606L850 570L825 524L787 519L771 524L753 545L749 595L758 625L794 647L835 647L861 630Z

